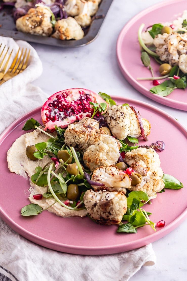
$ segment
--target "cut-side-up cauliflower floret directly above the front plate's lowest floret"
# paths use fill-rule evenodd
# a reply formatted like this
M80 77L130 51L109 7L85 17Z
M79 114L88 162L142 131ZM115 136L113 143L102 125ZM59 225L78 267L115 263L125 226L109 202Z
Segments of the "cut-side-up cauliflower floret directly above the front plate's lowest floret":
M131 186L131 178L114 165L99 167L94 170L91 180L103 183L103 186L92 185L96 190L121 191L126 193L126 187Z

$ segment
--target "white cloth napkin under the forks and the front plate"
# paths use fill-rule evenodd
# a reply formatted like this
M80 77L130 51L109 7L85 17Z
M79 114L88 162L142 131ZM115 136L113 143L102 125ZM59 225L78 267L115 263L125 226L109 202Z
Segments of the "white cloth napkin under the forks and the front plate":
M1 43L13 47L14 53L18 45L30 48L31 57L21 74L0 86L0 132L47 99L39 87L30 84L42 72L41 61L33 47L5 37L0 37ZM155 261L151 244L112 255L83 256L57 252L28 241L0 218L0 280L129 280L143 265L154 265Z

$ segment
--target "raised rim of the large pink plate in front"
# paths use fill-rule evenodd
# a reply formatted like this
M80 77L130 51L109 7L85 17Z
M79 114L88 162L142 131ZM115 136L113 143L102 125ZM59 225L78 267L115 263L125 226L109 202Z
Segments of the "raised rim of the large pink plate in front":
M186 137L187 137L187 132L186 132L185 127L183 125L181 125L178 121L176 121L176 119L174 117L172 117L169 114L166 114L163 110L160 110L156 106L151 106L145 102L141 102L141 101L137 101L137 100L134 101L133 99L129 99L129 98L124 99L122 97L117 97L117 96L112 97L112 98L115 100L123 100L123 101L125 100L130 103L136 102L137 104L144 105L145 107L155 110L156 112L158 112L159 114L161 114L165 117L167 116L167 118L169 118L174 124L176 124L177 127L179 129L181 129L181 132L183 132L183 134L186 135ZM31 114L38 112L38 110L40 110L40 108L41 108L41 106L26 113L22 117L15 120L12 124L10 124L4 130L4 132L0 135L0 144L1 144L1 141L4 139L4 137L8 136L8 134L12 131L12 128L15 129L14 125L17 124L17 126L18 126L23 120L25 120L27 118L27 116L30 117ZM138 239L134 244L123 243L123 244L117 244L115 246L105 246L105 247L73 246L73 245L67 245L67 244L62 244L62 243L56 243L54 241L50 241L50 240L44 239L42 237L38 237L37 235L20 227L17 223L15 223L15 221L13 221L10 217L8 217L3 212L1 207L0 207L0 214L1 214L1 217L3 218L3 220L17 233L19 233L26 239L28 239L36 244L39 244L41 246L44 246L46 248L56 250L56 251L66 252L66 253L79 254L79 255L105 255L105 254L120 253L123 251L129 251L129 250L133 250L136 248L140 248L142 246L145 246L149 243L152 243L152 242L162 238L163 236L167 235L172 230L174 230L180 223L182 223L185 220L185 218L187 217L187 208L186 208L186 210L184 210L181 213L181 215L179 217L177 217L177 219L175 219L169 225L165 226L163 229L159 230L159 232L155 232L151 235L146 236L146 240L145 240L145 237L143 237L141 239Z

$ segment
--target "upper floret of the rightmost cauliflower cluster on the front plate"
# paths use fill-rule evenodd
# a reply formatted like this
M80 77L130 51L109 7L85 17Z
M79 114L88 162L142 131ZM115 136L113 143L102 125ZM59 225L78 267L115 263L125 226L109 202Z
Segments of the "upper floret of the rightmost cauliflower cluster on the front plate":
M158 153L153 148L144 148L139 147L133 149L125 154L125 162L131 167L133 163L143 161L145 167L149 168L149 171L156 172L159 171L160 167L160 158ZM140 163L142 166L142 162ZM136 171L136 170L135 170Z

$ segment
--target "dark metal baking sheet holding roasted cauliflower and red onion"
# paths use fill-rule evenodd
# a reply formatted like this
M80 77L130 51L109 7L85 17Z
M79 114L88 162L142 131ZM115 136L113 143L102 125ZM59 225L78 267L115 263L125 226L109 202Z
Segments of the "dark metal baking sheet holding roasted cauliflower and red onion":
M11 16L12 7L10 6L4 6L4 8L0 11L0 36L5 37L12 37L16 40L25 40L29 42L35 42L45 45L52 45L52 46L58 46L58 47L81 47L84 45L87 45L91 43L98 35L98 32L101 28L101 25L105 19L105 16L108 12L108 9L110 8L110 5L112 4L113 0L102 0L99 6L99 9L94 16L100 16L103 15L102 18L94 19L89 27L89 29L86 31L86 35L80 39L80 40L59 40L52 37L43 37L38 35L31 35L29 33L23 33L20 31L17 31L15 28L15 23L13 21L13 18ZM1 4L2 1L0 1Z

